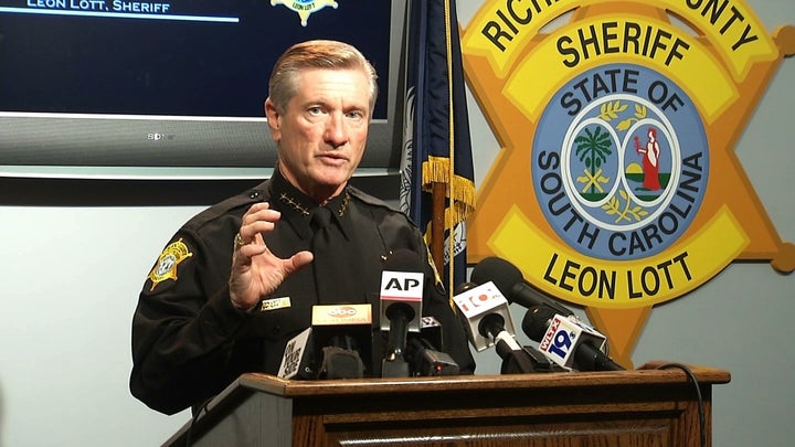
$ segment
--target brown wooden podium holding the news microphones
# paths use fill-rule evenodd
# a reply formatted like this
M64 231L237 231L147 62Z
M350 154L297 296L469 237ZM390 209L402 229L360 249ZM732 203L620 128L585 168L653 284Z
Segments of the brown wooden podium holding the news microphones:
M692 380L680 369L287 381L244 374L166 446L697 447ZM689 366L711 445L711 389Z

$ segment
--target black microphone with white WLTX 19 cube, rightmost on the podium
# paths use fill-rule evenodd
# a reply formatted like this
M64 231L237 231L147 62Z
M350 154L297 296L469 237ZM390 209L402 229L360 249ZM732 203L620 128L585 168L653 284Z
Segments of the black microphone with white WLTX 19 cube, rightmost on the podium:
M522 330L539 342L539 351L551 361L576 371L624 371L604 353L606 338L576 318L534 306L524 313Z

